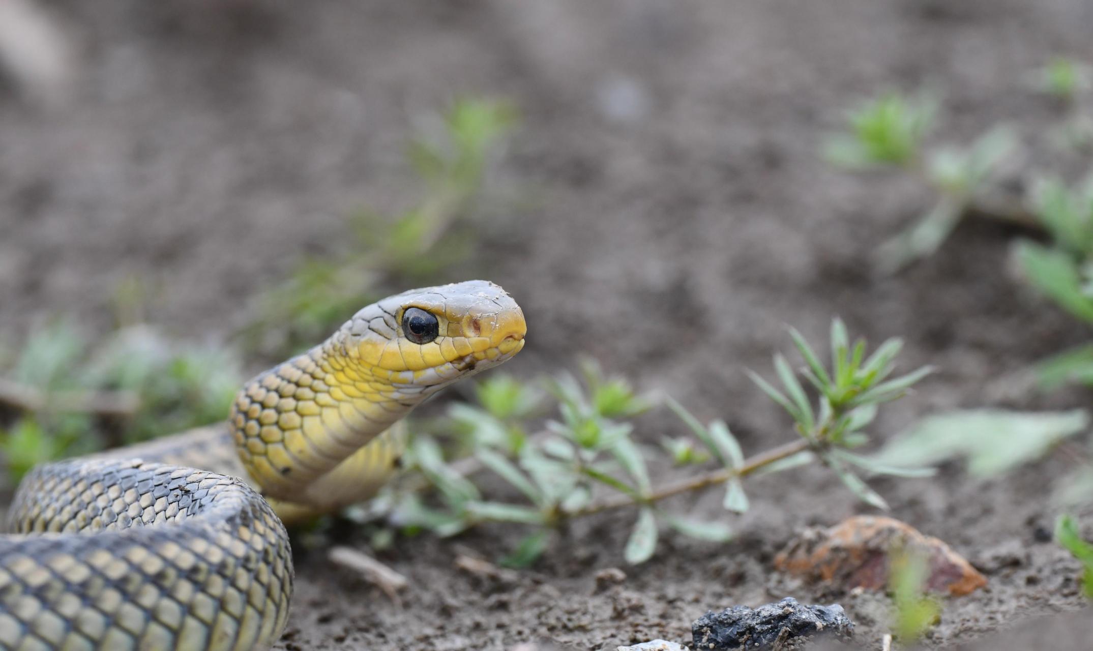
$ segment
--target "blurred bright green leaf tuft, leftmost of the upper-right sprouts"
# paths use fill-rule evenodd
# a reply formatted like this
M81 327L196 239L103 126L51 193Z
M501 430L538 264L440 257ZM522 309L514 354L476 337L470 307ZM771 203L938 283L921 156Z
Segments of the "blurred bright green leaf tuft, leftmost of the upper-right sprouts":
M849 168L910 166L933 122L937 102L888 93L865 102L848 116L849 133L831 137L828 161Z

